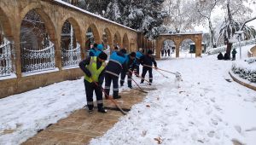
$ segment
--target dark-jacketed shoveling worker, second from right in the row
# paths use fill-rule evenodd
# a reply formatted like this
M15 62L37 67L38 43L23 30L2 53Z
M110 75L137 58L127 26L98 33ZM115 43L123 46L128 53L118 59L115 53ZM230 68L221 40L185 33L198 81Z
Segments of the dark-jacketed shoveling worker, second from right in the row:
M128 76L127 77L128 87L132 88L132 86L131 86L131 76L132 76L132 72L133 72L134 68L136 67L135 57L136 57L136 53L135 52L131 52L130 55L125 54L125 59L126 59L125 60L125 65L129 69L129 72L125 73L125 70L122 69L121 79L120 79L121 86L124 85L124 83L125 83L125 76L127 74L127 76Z

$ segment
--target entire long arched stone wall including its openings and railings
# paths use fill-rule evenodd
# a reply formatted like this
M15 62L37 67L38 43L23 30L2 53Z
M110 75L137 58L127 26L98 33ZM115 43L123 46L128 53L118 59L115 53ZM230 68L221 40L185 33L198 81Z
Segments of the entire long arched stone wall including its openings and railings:
M1 0L0 98L83 76L93 43L136 51L137 31L62 1Z

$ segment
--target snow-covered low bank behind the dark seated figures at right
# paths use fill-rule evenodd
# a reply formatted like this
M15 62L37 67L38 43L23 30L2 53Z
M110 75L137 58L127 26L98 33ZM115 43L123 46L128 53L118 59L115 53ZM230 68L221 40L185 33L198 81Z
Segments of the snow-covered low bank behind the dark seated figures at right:
M249 45L249 44L256 44L256 39L242 41L240 43L241 47ZM207 48L207 54L208 55L218 54L219 52L224 52L226 50L226 48L227 48L226 45L219 46L217 48ZM239 48L239 42L236 42L236 43L232 44L232 49L237 49L237 48Z

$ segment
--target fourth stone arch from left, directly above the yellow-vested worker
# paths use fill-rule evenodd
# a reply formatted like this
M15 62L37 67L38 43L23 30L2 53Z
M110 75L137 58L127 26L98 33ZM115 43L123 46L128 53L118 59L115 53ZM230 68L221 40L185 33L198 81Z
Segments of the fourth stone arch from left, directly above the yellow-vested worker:
M86 41L85 41L85 49L90 49L90 45L91 44L101 44L102 41L101 41L101 38L100 38L100 34L99 34L99 31L96 27L95 24L90 24L90 26L88 26L88 28L86 29L86 32L85 32L85 35L86 35Z

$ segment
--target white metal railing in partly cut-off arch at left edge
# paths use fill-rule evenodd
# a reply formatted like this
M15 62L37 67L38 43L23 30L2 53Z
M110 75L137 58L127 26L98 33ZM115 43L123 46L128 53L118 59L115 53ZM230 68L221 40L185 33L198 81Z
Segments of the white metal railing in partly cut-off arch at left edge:
M0 45L0 77L9 76L13 73L11 44L6 42Z

